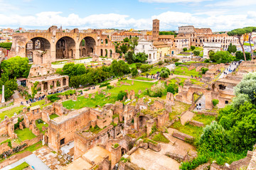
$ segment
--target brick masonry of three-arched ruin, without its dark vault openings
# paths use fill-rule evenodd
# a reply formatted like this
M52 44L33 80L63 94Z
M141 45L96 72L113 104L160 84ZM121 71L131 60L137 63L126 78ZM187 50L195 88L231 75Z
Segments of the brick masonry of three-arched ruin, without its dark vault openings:
M60 53L58 52L59 49L56 49L57 42L64 37L71 38L75 42L75 45L70 47L70 50L68 50L70 52L68 53L69 55L65 56L64 58L79 59L80 57L83 57L80 55L82 53L80 43L85 38L89 40L88 42L93 42L91 44L89 43L87 47L85 47L85 56L100 56L101 49L104 49L108 51L107 57L110 57L110 50L112 50L112 55L114 57L119 57L119 55L115 53L115 47L113 43L109 38L107 38L107 35L102 35L101 30L93 30L92 33L80 33L80 31L76 28L71 30L70 33L64 33L56 26L50 27L46 32L43 33L15 33L13 36L13 45L11 47L11 52L9 52L9 57L15 57L16 55L27 57L26 44L28 41L33 38L44 38L50 42L49 52L47 54L42 54L42 52L34 50L32 53L36 53L38 56L44 55L42 57L46 60L37 60L33 64L47 64L50 62L55 62L56 60L60 60L59 58L56 59L56 54ZM101 43L100 40L103 40L103 43Z

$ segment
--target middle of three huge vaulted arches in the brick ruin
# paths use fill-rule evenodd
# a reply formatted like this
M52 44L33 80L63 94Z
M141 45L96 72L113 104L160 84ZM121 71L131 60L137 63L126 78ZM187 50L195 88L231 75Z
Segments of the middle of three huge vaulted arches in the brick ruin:
M71 59L74 58L75 40L70 37L60 38L56 42L56 59Z

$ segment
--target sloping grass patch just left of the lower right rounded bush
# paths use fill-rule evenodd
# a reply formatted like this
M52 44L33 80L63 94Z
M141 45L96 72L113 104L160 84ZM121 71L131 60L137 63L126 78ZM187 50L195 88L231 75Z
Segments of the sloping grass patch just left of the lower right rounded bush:
M171 125L171 128L174 128L180 132L183 132L187 135L191 135L193 137L195 137L196 140L199 139L199 137L201 136L202 132L203 132L203 128L202 127L197 127L197 126L193 126L193 125L181 125L181 122L176 122L173 125Z

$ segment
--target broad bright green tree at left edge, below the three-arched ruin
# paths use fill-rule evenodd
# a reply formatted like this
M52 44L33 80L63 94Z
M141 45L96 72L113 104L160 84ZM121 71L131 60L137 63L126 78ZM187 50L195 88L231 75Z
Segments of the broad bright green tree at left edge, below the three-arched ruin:
M9 74L10 79L28 77L30 65L27 57L11 57L9 60L1 62L1 71Z

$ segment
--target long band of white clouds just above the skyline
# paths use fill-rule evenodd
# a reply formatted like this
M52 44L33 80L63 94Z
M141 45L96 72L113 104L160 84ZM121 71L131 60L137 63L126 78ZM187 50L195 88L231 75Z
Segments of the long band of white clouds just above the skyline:
M1 1L1 0L0 0ZM151 18L134 19L117 13L97 14L81 18L75 13L63 16L62 12L46 11L33 16L4 15L0 13L0 28L18 26L24 28L48 28L50 26L64 26L65 28L136 28L151 29L152 19L160 20L161 30L178 30L178 26L193 25L198 28L212 28L213 30L230 30L245 26L256 26L256 12L245 14L224 15L223 13L182 13L168 11Z

